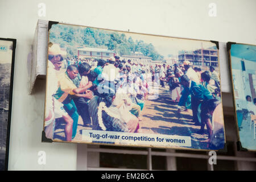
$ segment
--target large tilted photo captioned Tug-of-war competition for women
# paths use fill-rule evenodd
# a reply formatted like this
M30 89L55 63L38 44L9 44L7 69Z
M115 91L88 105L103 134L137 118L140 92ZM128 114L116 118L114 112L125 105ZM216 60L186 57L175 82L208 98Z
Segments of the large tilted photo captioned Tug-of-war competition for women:
M222 150L218 42L48 25L44 142Z

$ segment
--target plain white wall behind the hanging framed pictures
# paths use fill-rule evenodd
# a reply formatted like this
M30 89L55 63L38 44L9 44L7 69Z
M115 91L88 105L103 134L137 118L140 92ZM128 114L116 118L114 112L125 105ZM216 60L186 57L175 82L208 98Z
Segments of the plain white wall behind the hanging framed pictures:
M46 5L45 16L40 3ZM209 16L210 3L216 16ZM94 7L97 7L94 8ZM28 95L27 59L38 19L146 34L256 44L255 0L0 0L0 37L17 39L9 170L76 170L76 144L41 143L45 81ZM38 163L38 152L46 164Z

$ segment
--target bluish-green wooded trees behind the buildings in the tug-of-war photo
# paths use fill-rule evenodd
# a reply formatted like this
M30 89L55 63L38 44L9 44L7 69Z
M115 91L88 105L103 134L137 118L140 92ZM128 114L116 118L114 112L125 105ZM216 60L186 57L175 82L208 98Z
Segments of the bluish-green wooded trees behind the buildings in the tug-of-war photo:
M144 56L152 57L152 60L163 60L155 47L143 40L133 40L131 36L116 31L106 31L89 27L74 27L63 24L54 24L49 34L50 41L60 44L67 50L67 56L77 56L77 48L93 47L107 48L118 55L132 55L134 52L142 52Z

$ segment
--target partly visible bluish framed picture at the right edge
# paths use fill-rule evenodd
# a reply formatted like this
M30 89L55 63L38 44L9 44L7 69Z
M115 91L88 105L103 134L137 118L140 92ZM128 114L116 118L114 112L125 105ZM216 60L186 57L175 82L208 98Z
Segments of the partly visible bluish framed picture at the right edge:
M256 151L256 46L227 43L238 130L238 150Z

